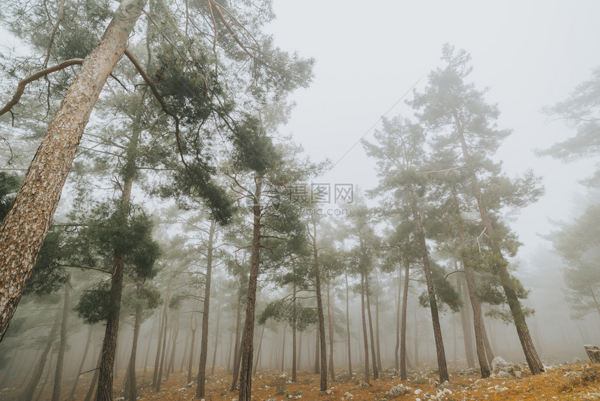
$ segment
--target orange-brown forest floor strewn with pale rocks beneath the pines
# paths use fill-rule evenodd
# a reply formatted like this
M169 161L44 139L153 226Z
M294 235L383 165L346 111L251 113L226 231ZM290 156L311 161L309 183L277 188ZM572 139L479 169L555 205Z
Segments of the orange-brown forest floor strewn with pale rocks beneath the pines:
M600 365L575 363L548 367L546 372L532 376L524 372L523 377L497 377L481 379L476 374L465 371L451 372L450 383L440 386L435 371L412 372L407 381L401 382L393 370L384 370L379 380L371 380L366 385L360 376L347 379L347 372L339 372L339 379L328 381L329 391L320 393L320 377L309 372L301 372L298 382L290 381L290 372L262 371L253 379L252 393L256 401L317 400L317 401L360 401L360 400L600 400ZM346 379L344 379L344 374ZM115 384L121 384L118 379ZM142 377L142 372L140 372ZM147 374L151 377L151 372ZM187 374L172 374L163 381L160 392L151 388L148 380L140 380L139 400L152 401L190 401L194 399L195 383L186 386ZM75 400L83 401L86 381L80 381ZM206 401L237 400L237 392L230 392L231 375L223 372L214 374L207 381ZM47 386L40 400L50 399L52 388ZM117 387L117 386L115 386ZM392 390L392 388L394 390ZM69 382L63 385L63 391L70 390ZM17 400L10 397L10 391L3 391L0 399ZM46 394L47 393L47 394ZM15 394L17 395L17 394ZM115 391L115 399L121 396ZM8 398L6 398L8 397Z

